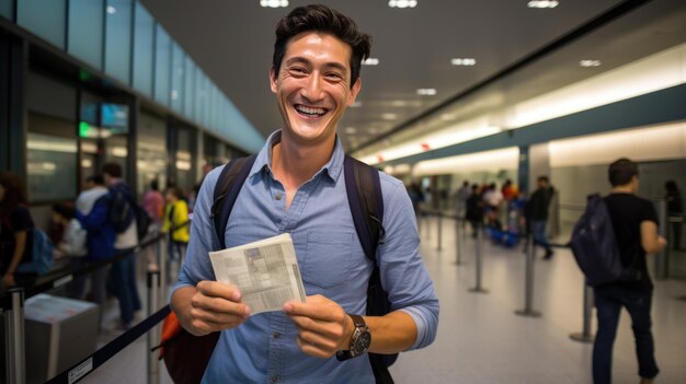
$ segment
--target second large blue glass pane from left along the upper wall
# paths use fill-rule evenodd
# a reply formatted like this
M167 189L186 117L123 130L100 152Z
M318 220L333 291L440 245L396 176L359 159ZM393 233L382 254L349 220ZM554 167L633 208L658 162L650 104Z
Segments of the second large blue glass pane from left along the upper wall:
M104 1L69 1L69 54L102 70Z

